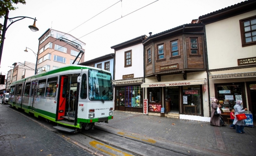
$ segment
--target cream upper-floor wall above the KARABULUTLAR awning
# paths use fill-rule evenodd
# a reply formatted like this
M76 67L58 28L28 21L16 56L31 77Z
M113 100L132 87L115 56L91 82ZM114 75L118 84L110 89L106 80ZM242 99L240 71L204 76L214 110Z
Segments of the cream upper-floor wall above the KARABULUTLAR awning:
M255 16L256 10L205 26L209 69L237 67L238 59L256 56L256 45L242 47L239 20Z

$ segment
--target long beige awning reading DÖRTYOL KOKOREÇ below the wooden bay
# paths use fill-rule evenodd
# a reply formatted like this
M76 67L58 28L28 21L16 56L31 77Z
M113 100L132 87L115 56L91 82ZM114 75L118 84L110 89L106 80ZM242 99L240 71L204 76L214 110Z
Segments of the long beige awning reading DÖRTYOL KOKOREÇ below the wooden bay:
M179 86L179 85L197 85L205 84L207 79L190 79L190 80L178 80L178 81L162 81L156 83L144 83L141 84L141 88L147 87L169 87L169 86Z

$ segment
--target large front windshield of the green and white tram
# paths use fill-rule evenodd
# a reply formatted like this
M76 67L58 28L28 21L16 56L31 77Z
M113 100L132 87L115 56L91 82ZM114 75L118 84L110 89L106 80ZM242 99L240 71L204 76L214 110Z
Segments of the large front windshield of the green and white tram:
M95 69L88 70L89 99L92 101L113 100L111 74Z

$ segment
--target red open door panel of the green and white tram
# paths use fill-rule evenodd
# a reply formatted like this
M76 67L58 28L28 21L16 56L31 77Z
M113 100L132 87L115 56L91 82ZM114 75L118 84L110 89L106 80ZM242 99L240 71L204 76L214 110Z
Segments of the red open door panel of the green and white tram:
M59 92L59 107L58 107L58 120L63 119L62 116L65 116L65 106L66 106L66 95L67 95L67 76L61 76L61 85Z

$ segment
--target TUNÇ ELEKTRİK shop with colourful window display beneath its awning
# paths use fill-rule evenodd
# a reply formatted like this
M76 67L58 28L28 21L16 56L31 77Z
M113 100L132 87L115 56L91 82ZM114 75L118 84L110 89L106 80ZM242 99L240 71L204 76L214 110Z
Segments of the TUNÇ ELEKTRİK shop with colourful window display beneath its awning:
M143 79L114 81L115 110L143 112Z

